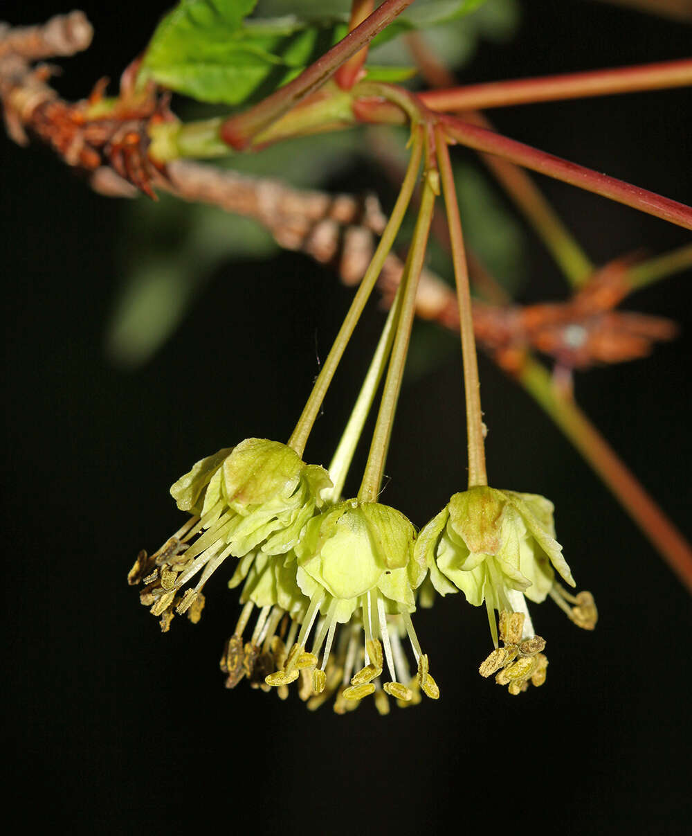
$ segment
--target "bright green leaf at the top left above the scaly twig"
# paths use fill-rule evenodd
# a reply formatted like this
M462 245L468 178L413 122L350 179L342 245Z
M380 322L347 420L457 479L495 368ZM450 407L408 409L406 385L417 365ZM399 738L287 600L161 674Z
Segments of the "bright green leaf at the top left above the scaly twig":
M184 0L159 23L139 79L210 103L241 104L299 74L346 32L296 18L245 20L256 0Z

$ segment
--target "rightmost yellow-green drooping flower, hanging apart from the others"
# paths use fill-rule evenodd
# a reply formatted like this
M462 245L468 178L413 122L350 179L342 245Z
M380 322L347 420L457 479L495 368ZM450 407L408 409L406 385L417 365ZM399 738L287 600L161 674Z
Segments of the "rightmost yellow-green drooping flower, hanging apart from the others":
M462 591L469 604L485 602L496 650L481 665L481 673L502 668L498 682L510 685L512 693L526 690L528 681L543 684L548 665L541 652L545 641L533 632L524 596L537 604L548 594L558 596L575 623L595 624L595 605L589 609L593 597L580 593L574 598L555 581L557 571L574 585L555 540L553 503L545 497L485 486L457 493L419 533L416 553L430 569L439 594ZM581 607L570 610L565 601ZM496 611L501 614L502 648Z

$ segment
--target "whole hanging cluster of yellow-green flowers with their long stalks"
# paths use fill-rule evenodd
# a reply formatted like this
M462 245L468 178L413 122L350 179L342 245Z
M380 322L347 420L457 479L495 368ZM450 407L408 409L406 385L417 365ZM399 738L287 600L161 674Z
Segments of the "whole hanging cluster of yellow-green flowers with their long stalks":
M230 561L228 586L240 587L242 609L221 658L226 686L234 688L246 679L285 699L295 683L310 709L333 698L334 710L344 713L373 696L385 714L389 698L398 706L415 705L422 694L437 700L440 691L412 622L417 605L423 599L430 603L431 586L442 596L461 591L469 604L485 603L495 650L480 673L494 674L511 694L526 691L529 683L542 685L548 666L545 640L533 631L526 599L538 604L550 595L586 629L593 629L597 619L590 594L574 596L555 579L557 573L574 585L555 540L553 504L487 486L475 344L447 144L429 126L414 129L397 205L288 443L249 438L198 461L171 488L189 520L158 552L140 552L129 573L130 584L144 584L141 601L166 631L175 615L200 619L206 582ZM423 150L417 224L371 368L329 468L306 464L306 441L396 237ZM402 512L378 498L417 282L441 186L462 320L469 487L454 494L417 534ZM346 473L385 369L361 487L356 497L344 500Z

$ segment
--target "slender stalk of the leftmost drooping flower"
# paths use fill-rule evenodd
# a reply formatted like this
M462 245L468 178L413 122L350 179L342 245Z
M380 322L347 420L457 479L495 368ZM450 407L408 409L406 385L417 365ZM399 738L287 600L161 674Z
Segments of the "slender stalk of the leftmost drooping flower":
M391 212L385 231L382 232L382 237L380 238L380 243L377 246L375 255L372 257L366 274L362 278L360 287L358 288L356 296L353 298L353 302L351 303L351 308L349 308L348 313L346 314L346 319L344 319L341 329L339 329L339 333L336 334L334 344L331 347L331 351L327 355L327 359L322 367L320 375L315 381L315 385L311 391L310 397L307 400L305 409L303 410L298 423L295 425L295 430L288 441L289 446L293 447L299 456L303 455L308 436L310 436L312 426L315 423L317 414L320 411L322 401L326 395L326 390L329 388L331 379L336 372L337 366L339 365L341 355L344 353L344 349L346 349L346 344L349 339L351 339L353 329L356 328L356 323L358 322L358 319L360 319L363 308L365 308L366 302L372 292L372 288L375 287L377 277L380 275L382 265L385 263L387 254L391 250L394 239L397 237L397 232L399 232L399 227L402 225L409 201L411 201L413 189L416 187L418 169L421 165L421 156L422 137L420 132L416 131L413 139L411 159L408 163L407 173L402 183L402 191L399 192L397 202Z

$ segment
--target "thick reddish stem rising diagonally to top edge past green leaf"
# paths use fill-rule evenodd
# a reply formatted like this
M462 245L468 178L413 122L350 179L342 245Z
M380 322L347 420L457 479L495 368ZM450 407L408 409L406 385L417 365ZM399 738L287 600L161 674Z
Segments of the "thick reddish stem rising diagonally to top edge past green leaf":
M346 35L346 38L317 59L315 64L303 70L296 79L267 96L259 104L255 104L255 107L251 107L250 110L245 110L225 120L221 127L221 139L236 150L247 148L253 136L331 79L341 64L370 43L377 33L397 18L412 2L413 0L385 0L385 3L382 3L360 26L356 26Z

